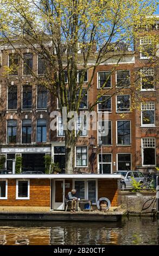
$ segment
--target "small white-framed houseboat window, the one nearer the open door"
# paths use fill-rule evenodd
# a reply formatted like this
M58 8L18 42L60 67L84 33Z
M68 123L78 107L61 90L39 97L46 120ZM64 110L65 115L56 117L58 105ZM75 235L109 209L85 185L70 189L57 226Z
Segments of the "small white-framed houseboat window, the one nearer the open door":
M29 199L29 180L16 181L16 199Z

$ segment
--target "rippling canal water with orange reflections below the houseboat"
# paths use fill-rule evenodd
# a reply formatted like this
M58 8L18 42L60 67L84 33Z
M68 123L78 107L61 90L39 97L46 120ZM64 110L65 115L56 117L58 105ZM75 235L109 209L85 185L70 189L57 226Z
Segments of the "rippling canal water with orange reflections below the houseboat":
M159 220L117 223L0 221L0 245L159 245Z

